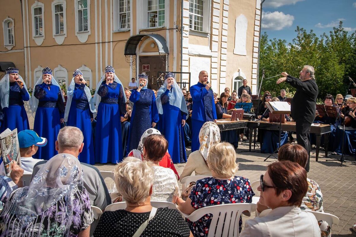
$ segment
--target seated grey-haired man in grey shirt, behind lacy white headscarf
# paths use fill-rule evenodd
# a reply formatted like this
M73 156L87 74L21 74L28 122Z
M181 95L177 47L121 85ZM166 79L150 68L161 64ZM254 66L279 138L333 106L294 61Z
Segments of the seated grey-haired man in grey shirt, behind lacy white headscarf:
M59 130L56 141L56 150L58 151L58 154L69 154L78 157L79 153L83 150L83 140L83 133L79 128L65 126ZM41 161L33 167L32 180L34 178L33 175L36 174L39 169L42 169L43 166L46 166L46 164L46 161ZM84 173L83 186L89 193L90 205L104 210L107 205L111 204L111 199L99 169L87 163L81 163L81 165ZM96 223L98 223L97 220L91 225L90 235L92 235L95 230Z

